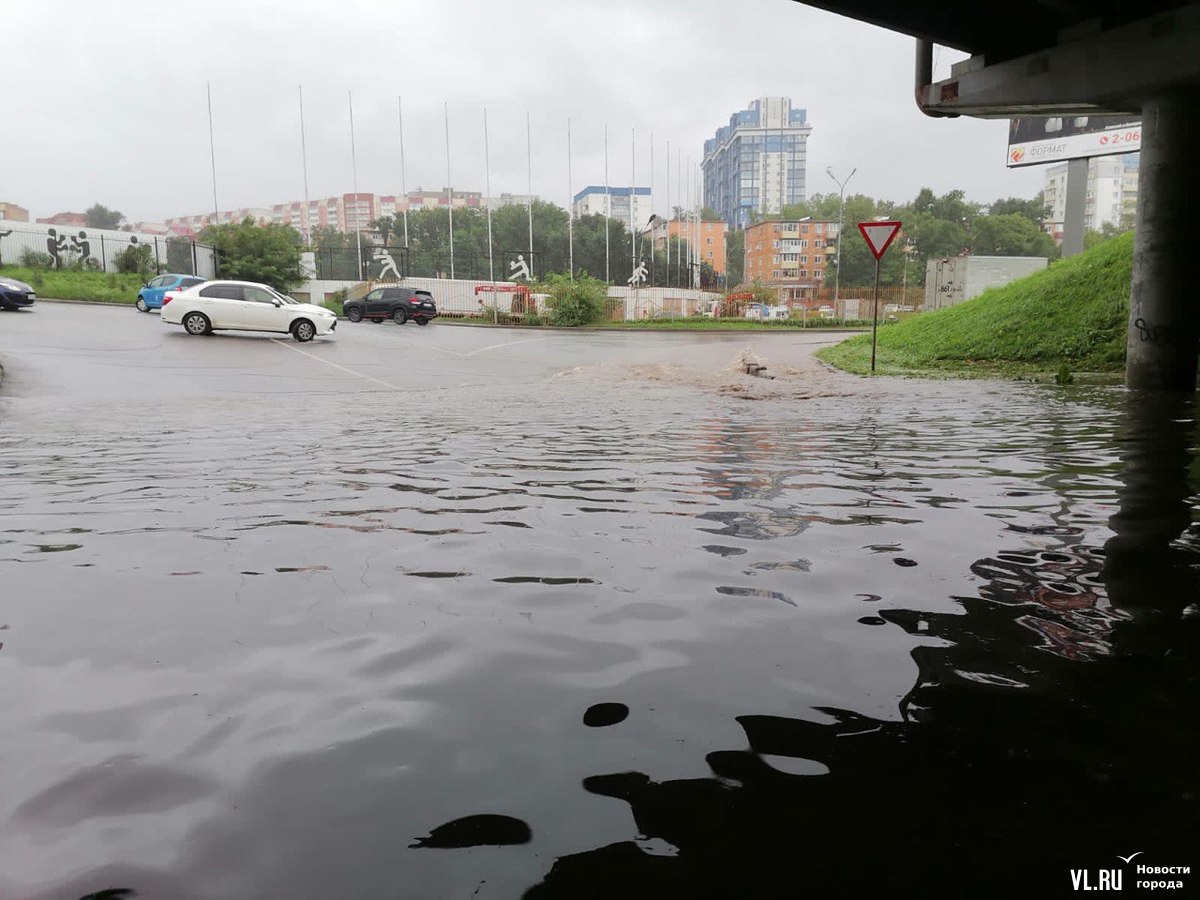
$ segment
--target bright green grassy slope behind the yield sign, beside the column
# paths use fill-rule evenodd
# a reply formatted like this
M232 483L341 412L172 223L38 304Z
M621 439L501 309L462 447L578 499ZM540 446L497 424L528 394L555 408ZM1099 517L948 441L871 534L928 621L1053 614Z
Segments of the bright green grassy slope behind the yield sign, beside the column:
M1133 234L1104 241L973 300L881 329L881 374L1045 377L1124 366ZM817 356L847 372L871 368L871 337Z

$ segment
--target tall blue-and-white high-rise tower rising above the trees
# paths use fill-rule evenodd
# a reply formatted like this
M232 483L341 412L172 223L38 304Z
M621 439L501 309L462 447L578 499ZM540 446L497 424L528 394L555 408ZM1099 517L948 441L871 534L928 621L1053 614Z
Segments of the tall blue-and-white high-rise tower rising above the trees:
M755 214L803 203L811 133L806 112L788 97L760 97L731 115L704 142L704 205L731 228L745 228Z

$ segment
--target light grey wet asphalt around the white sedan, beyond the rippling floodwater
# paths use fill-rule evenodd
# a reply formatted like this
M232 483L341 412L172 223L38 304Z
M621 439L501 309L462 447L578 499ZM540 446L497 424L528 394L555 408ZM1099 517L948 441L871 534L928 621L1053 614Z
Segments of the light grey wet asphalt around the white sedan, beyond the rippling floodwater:
M486 394L528 389L564 374L766 388L761 379L737 372L742 353L767 359L772 372L786 368L804 372L809 380L828 378L811 353L844 337L340 322L334 336L299 344L287 336L251 332L193 337L164 325L157 313L132 307L42 302L31 311L0 313L0 365L7 371L0 396L17 398L30 412L61 413L107 408L120 400L118 415L137 421L157 402L305 394L312 397L313 413L322 414L322 404L361 394ZM128 404L132 398L136 406Z

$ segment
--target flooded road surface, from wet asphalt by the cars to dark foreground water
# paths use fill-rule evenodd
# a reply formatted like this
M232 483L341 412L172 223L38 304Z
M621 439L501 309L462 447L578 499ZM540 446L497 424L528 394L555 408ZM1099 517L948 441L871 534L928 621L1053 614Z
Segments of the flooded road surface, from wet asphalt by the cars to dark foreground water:
M830 340L0 316L0 898L1200 865L1194 409Z

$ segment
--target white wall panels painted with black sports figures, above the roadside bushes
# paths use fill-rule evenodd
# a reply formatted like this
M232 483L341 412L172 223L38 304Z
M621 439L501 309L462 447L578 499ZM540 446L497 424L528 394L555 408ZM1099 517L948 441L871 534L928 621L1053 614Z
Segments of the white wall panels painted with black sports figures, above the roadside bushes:
M161 271L216 277L212 247L184 238L137 232L0 221L0 264L19 265L25 250L49 254L61 265L83 263L96 271L116 271L116 254L148 246ZM194 251L194 252L193 252Z

